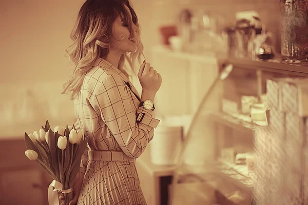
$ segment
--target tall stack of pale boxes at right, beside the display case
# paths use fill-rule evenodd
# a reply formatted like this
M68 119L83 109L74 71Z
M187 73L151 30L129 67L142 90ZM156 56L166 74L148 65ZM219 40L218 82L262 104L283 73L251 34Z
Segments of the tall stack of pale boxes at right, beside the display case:
M269 126L255 136L256 202L308 204L308 79L268 79L266 89Z

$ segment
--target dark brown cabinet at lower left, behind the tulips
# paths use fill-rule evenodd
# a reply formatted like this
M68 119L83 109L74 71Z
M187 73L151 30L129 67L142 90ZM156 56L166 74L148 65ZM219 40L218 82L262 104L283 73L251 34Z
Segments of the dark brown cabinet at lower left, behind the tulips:
M0 204L48 204L51 179L25 151L23 138L0 141Z

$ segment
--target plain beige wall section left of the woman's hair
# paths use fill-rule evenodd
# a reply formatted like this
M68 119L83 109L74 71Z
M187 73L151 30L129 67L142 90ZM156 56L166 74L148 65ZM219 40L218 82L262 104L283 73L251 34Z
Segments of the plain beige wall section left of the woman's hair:
M33 90L35 100L45 103L46 109L50 106L55 117L59 117L57 111L65 110L62 118L73 120L72 101L61 91L73 69L65 49L71 44L69 34L82 3L82 0L0 2L0 112L4 113L0 115L0 125L18 121L26 90ZM12 110L16 115L10 115ZM41 118L50 119L50 112Z

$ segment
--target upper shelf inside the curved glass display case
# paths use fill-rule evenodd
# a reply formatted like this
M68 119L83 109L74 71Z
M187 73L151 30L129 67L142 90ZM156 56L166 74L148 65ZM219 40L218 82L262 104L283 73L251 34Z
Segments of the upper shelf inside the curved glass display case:
M233 128L235 130L254 135L255 125L223 113L210 113L210 119L218 124Z

